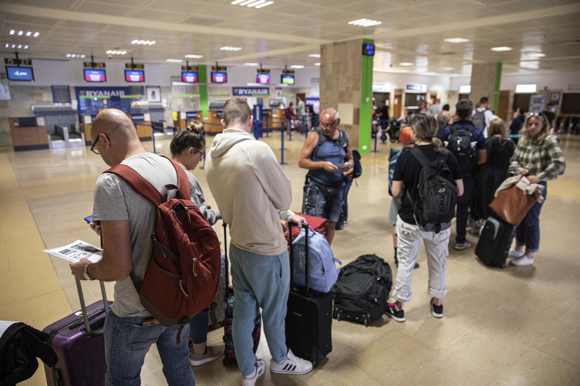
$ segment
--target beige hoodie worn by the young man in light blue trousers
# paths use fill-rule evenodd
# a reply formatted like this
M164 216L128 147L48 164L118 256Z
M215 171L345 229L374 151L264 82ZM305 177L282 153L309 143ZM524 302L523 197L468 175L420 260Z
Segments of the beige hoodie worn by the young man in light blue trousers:
M270 256L288 249L280 220L291 217L290 180L266 143L223 130L213 139L205 177L235 246Z

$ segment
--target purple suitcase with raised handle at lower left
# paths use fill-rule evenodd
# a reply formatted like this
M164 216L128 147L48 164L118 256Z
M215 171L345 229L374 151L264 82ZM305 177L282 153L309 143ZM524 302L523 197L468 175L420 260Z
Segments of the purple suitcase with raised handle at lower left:
M107 364L103 326L106 309L111 302L103 282L100 282L103 301L85 306L81 281L77 282L81 310L52 323L43 331L49 334L46 342L52 347L59 362L55 367L44 365L48 386L102 386L105 384Z

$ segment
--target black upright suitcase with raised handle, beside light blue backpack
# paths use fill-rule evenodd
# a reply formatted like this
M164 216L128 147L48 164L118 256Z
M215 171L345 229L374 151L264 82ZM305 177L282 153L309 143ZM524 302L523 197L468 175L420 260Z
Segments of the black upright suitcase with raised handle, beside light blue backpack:
M292 223L288 224L292 235ZM308 224L306 229L305 287L294 285L294 260L290 241L290 293L286 314L286 345L299 358L318 366L320 360L332 351L332 307L331 293L319 293L308 287Z

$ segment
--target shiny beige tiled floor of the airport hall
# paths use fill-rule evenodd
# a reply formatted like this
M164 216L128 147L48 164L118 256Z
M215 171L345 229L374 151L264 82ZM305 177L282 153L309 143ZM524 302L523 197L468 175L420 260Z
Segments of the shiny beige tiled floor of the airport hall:
M280 154L279 135L264 140ZM407 322L384 316L365 328L333 321L333 351L317 369L293 377L267 372L261 384L579 385L580 141L560 140L567 170L548 183L541 252L534 267L487 268L474 257L473 248L451 249L445 318L435 319L429 311L422 251L422 265L414 272L414 297L405 308ZM285 143L289 165L283 167L292 181L294 210L302 202L305 170L296 162L302 143L302 136ZM151 150L151 143L144 145ZM168 141L158 141L157 150L167 154ZM389 147L379 144L379 150L362 158L364 173L349 195L349 224L336 234L333 252L343 264L365 253L393 261L386 223ZM92 212L93 186L105 169L88 148L0 152L0 319L42 329L79 308L68 264L41 250L75 239L99 242L83 219ZM194 174L215 206L204 171ZM83 284L86 301L98 300L99 285ZM107 283L107 292L112 298L112 283ZM221 340L221 330L209 333L209 344ZM258 356L270 358L264 337ZM237 367L224 367L220 360L195 367L194 373L198 385L240 384ZM155 347L141 376L143 385L166 384ZM44 372L39 370L24 384L44 385Z

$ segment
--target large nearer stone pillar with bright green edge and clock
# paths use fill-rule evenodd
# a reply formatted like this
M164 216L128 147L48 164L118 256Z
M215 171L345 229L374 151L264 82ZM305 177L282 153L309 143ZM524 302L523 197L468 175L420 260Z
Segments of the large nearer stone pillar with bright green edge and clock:
M371 147L372 56L362 55L368 39L320 47L320 111L334 107L339 128L349 133L352 147L368 153Z

